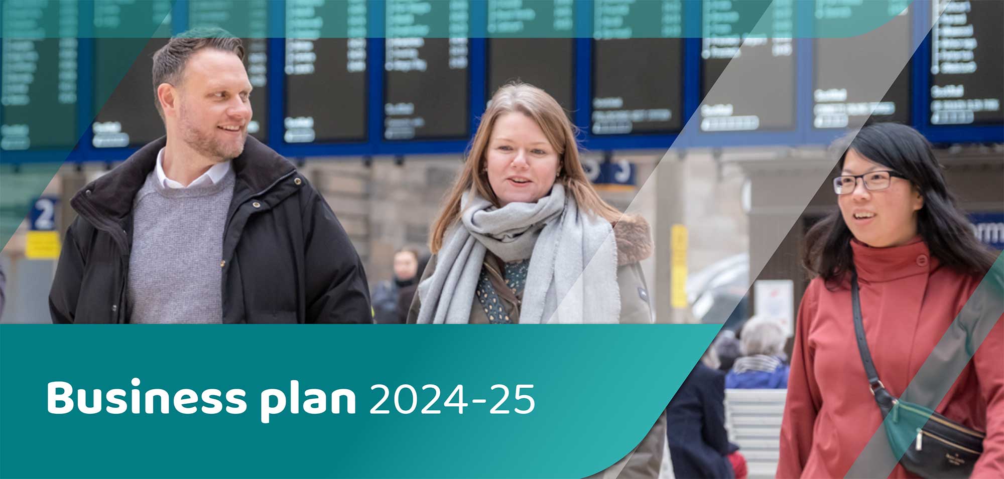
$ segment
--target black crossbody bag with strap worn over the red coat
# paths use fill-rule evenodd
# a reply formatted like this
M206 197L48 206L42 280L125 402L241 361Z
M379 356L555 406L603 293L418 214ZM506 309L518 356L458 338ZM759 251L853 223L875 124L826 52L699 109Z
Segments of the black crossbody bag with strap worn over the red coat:
M986 434L967 428L924 406L894 397L878 380L864 338L857 274L851 273L850 299L854 307L854 336L861 354L871 394L886 421L886 436L893 454L908 471L925 478L968 478L983 454ZM892 419L892 420L890 420Z

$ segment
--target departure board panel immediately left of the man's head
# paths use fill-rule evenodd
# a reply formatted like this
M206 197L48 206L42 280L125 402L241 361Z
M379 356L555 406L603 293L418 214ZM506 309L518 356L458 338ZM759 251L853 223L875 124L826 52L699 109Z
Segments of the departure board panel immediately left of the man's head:
M153 56L171 36L171 0L94 1L95 148L141 146L164 135L154 106ZM146 38L119 38L123 23L149 22ZM153 38L151 38L151 36Z

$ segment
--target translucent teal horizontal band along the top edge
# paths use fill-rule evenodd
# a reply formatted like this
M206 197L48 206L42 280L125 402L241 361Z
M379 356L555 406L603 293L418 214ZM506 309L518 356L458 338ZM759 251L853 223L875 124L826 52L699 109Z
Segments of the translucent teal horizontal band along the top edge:
M53 0L39 13L38 0L4 0L0 35L166 38L187 24L245 38L849 38L915 1ZM75 16L88 21L69 21Z

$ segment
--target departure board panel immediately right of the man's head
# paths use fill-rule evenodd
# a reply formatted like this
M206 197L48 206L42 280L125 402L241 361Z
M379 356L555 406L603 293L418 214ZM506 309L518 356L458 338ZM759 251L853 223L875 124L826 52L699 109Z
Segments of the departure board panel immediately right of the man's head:
M240 36L244 66L248 70L253 115L248 133L268 140L268 2L267 0L215 0L189 2L189 27L220 27Z

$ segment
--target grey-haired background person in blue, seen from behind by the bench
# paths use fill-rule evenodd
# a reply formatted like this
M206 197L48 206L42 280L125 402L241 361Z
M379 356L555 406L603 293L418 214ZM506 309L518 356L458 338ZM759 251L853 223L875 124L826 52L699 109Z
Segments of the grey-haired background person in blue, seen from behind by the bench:
M739 335L743 357L736 360L725 376L728 389L785 389L788 365L784 364L787 337L780 322L753 317Z

